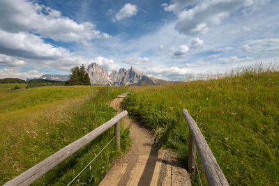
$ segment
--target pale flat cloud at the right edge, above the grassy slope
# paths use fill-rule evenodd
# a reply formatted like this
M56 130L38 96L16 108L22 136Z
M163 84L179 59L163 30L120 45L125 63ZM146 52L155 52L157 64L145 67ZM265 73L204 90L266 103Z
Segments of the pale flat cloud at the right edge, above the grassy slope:
M262 40L252 40L242 47L244 52L258 54L259 56L269 56L278 54L279 38L264 38Z

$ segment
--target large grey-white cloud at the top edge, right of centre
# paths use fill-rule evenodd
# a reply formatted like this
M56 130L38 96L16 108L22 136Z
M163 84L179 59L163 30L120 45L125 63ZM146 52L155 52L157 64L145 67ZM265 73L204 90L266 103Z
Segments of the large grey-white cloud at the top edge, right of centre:
M175 28L183 34L206 33L209 27L219 24L229 13L241 7L249 7L259 0L207 0L207 1L171 1L163 4L166 11L178 16ZM186 8L190 6L190 8Z

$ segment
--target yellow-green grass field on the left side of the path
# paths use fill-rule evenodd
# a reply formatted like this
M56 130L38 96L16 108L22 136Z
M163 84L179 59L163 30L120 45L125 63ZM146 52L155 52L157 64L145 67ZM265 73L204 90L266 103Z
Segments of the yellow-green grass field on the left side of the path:
M8 91L15 85L20 90ZM108 106L125 87L51 86L24 88L26 84L0 84L0 185L84 136L116 115ZM121 130L121 148L130 139ZM113 129L78 150L35 185L66 185L114 137ZM115 143L82 173L75 185L98 185L119 155Z

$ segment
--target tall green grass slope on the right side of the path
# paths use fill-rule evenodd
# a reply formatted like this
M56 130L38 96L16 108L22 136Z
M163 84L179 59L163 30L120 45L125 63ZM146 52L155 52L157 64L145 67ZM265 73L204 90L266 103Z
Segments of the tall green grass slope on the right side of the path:
M185 164L188 125L181 111L188 109L230 185L279 184L279 72L248 68L219 79L135 87L122 104Z

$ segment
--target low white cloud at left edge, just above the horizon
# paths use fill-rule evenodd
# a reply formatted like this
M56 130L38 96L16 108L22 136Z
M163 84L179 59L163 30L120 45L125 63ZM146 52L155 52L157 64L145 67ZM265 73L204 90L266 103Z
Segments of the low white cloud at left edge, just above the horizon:
M20 72L15 68L0 68L0 78L14 77L14 78L38 78L43 73L38 72L37 70L29 70L27 72Z

